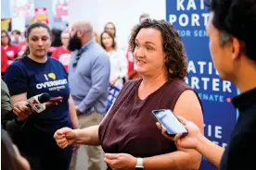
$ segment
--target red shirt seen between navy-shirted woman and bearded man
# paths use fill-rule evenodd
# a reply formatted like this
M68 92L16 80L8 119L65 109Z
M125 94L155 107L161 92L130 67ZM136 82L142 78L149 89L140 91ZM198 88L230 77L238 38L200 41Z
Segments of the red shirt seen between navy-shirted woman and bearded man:
M57 59L68 71L70 64L70 54L71 52L65 49L63 46L59 46L56 48L55 52L53 52L52 57Z

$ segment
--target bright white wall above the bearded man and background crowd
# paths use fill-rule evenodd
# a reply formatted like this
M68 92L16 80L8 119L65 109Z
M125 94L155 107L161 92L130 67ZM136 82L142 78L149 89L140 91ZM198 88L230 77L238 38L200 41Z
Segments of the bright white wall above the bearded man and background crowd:
M139 16L147 13L151 18L165 19L165 0L70 0L70 18L92 21L96 30L101 32L111 21L117 28L119 46L126 45Z

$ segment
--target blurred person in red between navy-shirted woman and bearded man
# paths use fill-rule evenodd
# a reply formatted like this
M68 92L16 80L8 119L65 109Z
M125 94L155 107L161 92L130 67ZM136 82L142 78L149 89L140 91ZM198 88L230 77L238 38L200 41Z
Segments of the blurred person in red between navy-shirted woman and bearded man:
M70 54L71 52L68 50L68 44L70 41L70 33L65 31L61 33L61 42L62 46L59 46L56 51L52 54L52 57L58 59L60 63L66 68L68 71L70 64Z

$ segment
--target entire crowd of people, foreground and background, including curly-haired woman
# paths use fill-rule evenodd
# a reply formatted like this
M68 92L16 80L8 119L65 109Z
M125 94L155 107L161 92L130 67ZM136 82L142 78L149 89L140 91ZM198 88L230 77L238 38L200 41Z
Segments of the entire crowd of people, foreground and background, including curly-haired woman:
M226 149L204 137L202 105L186 84L186 50L171 23L142 15L123 53L111 22L98 35L90 22L76 21L69 32L55 31L59 39L37 22L26 30L22 55L19 39L11 42L1 32L2 167L75 169L84 145L89 170L100 169L101 148L108 170L194 170L202 156L221 170L255 169L256 2L212 0L208 6L212 61L241 92L233 100L240 114ZM44 92L61 100L35 113L28 99ZM167 135L151 115L157 109L172 110L187 134Z

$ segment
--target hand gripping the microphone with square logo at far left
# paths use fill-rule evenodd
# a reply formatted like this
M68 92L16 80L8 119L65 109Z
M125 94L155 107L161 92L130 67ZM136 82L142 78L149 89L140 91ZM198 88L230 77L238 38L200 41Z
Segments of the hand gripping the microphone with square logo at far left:
M13 105L13 113L18 116L18 121L25 121L32 114L33 110L27 104L26 101L20 101Z

